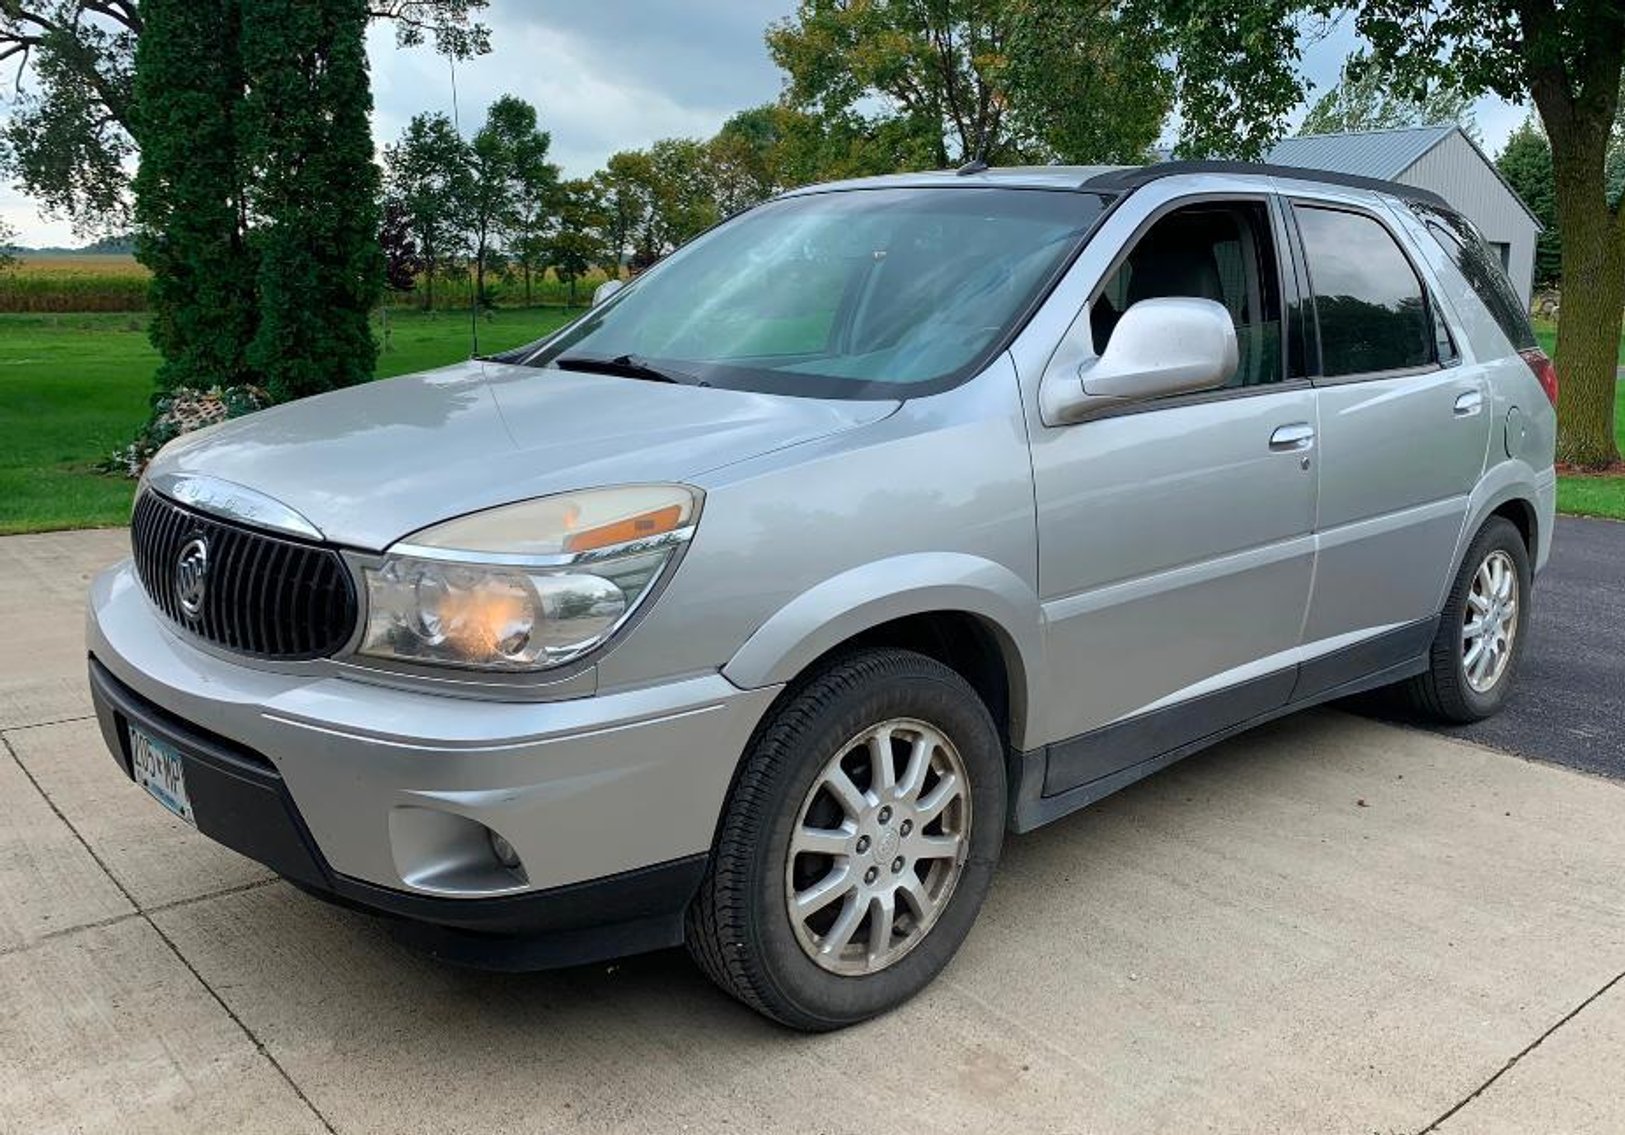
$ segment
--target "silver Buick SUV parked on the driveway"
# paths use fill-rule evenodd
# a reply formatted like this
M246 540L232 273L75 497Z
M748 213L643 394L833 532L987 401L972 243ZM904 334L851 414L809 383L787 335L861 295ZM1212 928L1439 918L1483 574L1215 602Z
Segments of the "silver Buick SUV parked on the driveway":
M89 680L159 803L440 956L686 943L838 1028L1006 831L1357 691L1495 712L1554 398L1414 189L817 185L540 343L167 446Z

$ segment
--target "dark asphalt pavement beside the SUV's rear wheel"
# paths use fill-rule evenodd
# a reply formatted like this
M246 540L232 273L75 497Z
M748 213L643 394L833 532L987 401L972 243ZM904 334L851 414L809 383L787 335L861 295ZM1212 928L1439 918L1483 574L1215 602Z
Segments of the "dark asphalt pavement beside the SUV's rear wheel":
M1625 524L1557 519L1528 633L1500 714L1448 728L1404 722L1625 781Z

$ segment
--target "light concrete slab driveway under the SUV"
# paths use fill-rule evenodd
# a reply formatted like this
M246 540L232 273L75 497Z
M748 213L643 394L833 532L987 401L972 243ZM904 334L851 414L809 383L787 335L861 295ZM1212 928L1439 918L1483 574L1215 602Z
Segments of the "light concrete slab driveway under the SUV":
M1011 841L827 1037L678 953L445 969L115 774L80 597L0 540L0 1130L1618 1132L1625 785L1316 712Z

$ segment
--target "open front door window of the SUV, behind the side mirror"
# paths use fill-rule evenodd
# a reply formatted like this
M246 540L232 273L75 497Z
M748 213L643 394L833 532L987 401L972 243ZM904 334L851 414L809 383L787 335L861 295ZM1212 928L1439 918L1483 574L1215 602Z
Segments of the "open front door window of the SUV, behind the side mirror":
M1230 312L1240 363L1225 385L1280 382L1280 276L1261 203L1193 205L1152 224L1089 312L1095 353L1131 304L1164 296L1212 299Z

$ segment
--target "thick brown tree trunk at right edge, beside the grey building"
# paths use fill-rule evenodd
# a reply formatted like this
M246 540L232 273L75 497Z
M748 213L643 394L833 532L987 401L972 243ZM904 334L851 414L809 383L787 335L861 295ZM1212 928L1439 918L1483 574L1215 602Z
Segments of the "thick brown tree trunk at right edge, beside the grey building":
M1604 468L1620 457L1614 394L1625 314L1625 210L1610 210L1604 197L1606 133L1554 132L1550 138L1557 223L1563 234L1557 459Z

